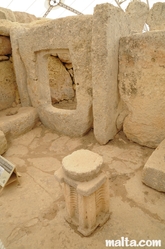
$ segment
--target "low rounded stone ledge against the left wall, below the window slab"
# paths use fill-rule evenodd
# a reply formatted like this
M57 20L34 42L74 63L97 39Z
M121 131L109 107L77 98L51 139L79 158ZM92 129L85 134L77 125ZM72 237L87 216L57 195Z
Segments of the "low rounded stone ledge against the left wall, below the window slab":
M31 130L37 121L38 115L33 107L22 107L14 115L1 116L0 130L5 136L16 137Z

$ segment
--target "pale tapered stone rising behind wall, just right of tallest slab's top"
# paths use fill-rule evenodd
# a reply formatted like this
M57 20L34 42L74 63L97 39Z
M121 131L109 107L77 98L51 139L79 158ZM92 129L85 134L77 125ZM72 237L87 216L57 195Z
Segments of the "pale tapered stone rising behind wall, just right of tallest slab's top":
M142 33L144 24L146 23L149 8L146 3L140 1L132 1L126 8L131 32Z

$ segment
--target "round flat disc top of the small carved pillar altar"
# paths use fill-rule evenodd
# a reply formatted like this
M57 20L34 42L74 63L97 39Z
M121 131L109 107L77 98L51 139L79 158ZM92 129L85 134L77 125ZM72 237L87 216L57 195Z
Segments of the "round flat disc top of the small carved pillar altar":
M65 174L77 181L87 181L97 176L102 164L102 156L83 149L74 151L62 160Z

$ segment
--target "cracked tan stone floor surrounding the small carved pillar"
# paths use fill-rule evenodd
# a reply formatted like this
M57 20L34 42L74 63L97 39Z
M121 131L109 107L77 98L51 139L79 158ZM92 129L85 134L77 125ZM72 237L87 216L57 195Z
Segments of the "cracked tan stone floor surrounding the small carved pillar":
M64 157L87 149L103 157L109 175L111 217L90 237L64 219L62 190L54 178ZM153 149L122 132L101 146L89 132L81 138L56 134L44 126L13 139L3 156L17 165L20 185L0 196L0 239L7 249L105 249L106 239L161 239L165 247L165 194L142 183L142 169Z

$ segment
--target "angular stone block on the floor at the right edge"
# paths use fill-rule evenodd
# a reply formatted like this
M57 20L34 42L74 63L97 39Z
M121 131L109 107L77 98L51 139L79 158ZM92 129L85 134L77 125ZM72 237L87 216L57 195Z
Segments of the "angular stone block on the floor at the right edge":
M151 188L165 192L165 140L160 143L146 162L142 181Z

